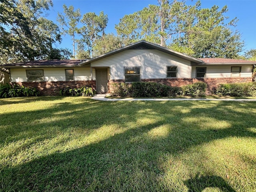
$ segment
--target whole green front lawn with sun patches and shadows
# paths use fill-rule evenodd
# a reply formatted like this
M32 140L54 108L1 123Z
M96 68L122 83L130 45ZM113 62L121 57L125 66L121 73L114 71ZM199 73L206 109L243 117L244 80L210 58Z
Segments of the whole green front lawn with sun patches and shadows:
M0 191L256 191L256 102L0 106Z

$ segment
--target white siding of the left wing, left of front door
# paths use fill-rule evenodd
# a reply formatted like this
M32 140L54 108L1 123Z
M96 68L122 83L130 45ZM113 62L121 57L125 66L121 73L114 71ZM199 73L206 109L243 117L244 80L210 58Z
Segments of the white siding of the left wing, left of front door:
M45 81L65 81L65 69L74 69L75 80L91 80L90 67L68 67L68 68L10 68L12 82L26 82L26 70L44 70ZM93 80L95 80L95 70L92 69Z

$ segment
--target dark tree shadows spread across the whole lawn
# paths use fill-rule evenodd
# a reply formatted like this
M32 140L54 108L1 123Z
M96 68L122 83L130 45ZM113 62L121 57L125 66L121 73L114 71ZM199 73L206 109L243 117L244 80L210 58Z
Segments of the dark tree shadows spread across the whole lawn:
M118 132L96 142L85 142L82 147L72 150L55 151L16 166L4 166L0 169L2 190L164 190L164 186L158 182L162 172L159 158L163 154L179 156L193 146L230 136L256 138L256 133L248 130L250 127L255 127L255 119L252 119L255 114L250 111L243 112L246 116L242 122L239 122L240 119L236 122L231 121L228 126L218 130L215 127L204 128L200 124L196 124L196 119L200 117L210 117L218 121L234 119L236 114L232 113L232 108L225 108L232 105L237 106L237 103L182 102L180 105L180 102L88 102L85 104L59 104L50 112L38 110L36 114L41 113L42 119L51 118L54 114L58 118L53 118L50 122L36 122L36 126L44 129L38 133L42 138L35 138L33 142L29 143L29 146L46 138L55 138L58 136L58 132L70 132L74 127L76 130L80 130L85 138L92 131L100 130L104 126L118 126ZM256 103L251 103L250 107L255 108ZM64 108L69 110L64 111ZM244 104L238 108L244 108ZM222 113L228 112L230 113L228 116L222 115ZM34 113L32 111L29 114L6 114L4 118L7 118L8 115L31 115L31 122L35 122L37 115L33 116ZM148 122L136 125L136 122L143 118ZM193 118L195 122L185 121L187 118ZM56 126L55 129L47 132L47 128L52 125ZM154 139L147 136L151 130L164 125L170 127L166 135ZM33 131L30 126L25 126L20 133L10 132L7 136L21 140L30 138L32 136L30 132ZM20 137L23 132L25 134ZM64 139L59 142L66 145L68 141ZM228 189L226 181L214 175L191 178L184 184L191 190L194 189L191 183L196 186L196 189L203 190L204 186L207 187L208 182L221 179L221 183L224 185L222 188ZM215 182L216 187L221 187L217 184L218 182ZM176 191L179 190L184 191L184 188L176 189Z

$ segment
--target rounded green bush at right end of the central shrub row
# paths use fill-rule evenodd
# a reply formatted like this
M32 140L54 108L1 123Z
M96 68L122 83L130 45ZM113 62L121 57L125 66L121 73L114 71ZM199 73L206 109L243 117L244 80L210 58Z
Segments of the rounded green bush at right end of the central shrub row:
M202 97L205 96L207 84L204 82L196 82L193 84L182 86L183 96Z

